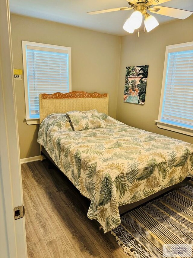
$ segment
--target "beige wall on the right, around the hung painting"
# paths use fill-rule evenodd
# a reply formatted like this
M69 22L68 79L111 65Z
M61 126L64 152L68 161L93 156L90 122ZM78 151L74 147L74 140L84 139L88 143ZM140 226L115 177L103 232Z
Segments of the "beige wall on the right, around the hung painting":
M159 25L149 33L140 32L122 37L117 99L117 119L140 129L193 143L193 137L160 129L158 119L167 45L193 41L193 16ZM125 67L149 65L144 106L124 103Z

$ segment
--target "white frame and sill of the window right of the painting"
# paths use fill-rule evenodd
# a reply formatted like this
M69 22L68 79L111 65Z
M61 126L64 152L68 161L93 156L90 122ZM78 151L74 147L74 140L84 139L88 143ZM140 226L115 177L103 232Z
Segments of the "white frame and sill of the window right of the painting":
M168 54L172 53L172 52L187 51L187 50L193 50L193 41L166 46L165 61L164 61L164 68L163 68L162 89L161 89L161 96L160 96L159 115L158 115L158 119L155 120L155 122L157 122L157 127L159 127L159 128L193 136L193 128L192 129L191 128L186 128L185 126L174 125L174 124L169 123L169 122L161 121L163 102L164 102L166 76L167 76Z

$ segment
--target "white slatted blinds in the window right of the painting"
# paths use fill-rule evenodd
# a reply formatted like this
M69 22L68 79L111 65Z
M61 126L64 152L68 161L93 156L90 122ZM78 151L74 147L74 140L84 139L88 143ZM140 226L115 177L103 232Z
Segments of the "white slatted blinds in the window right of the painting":
M168 53L161 121L193 128L193 50Z

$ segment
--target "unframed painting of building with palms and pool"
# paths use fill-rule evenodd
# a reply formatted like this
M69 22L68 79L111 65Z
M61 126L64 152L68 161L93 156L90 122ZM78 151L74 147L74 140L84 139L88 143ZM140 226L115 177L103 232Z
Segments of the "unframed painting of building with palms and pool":
M148 65L126 67L124 102L144 105L148 68Z

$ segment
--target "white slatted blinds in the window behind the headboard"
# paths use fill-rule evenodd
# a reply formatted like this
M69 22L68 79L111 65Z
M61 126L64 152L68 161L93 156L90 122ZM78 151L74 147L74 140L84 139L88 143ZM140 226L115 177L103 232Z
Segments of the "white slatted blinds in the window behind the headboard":
M39 118L40 93L69 92L68 62L68 50L26 46L29 118Z

